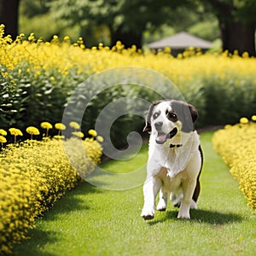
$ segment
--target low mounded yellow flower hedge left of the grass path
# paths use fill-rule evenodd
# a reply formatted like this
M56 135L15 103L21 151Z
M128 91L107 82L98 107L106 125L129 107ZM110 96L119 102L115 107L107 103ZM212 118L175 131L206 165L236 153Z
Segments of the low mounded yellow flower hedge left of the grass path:
M86 154L73 145L82 142ZM26 237L34 219L79 183L100 162L101 145L93 138L65 141L44 138L10 144L0 153L0 254L11 253ZM72 152L68 155L67 151ZM79 174L70 165L75 161Z

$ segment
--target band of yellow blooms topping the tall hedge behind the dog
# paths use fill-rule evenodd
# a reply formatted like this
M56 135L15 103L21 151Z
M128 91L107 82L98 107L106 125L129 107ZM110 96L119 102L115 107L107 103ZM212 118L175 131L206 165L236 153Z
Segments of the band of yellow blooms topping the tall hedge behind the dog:
M61 41L55 36L49 43L34 37L24 40L24 35L21 34L15 42L12 42L10 38L3 38L3 31L2 25L0 26L0 36L2 35L0 63L9 70L15 69L24 61L28 61L31 65L26 71L18 70L20 76L32 73L33 70L37 71L34 76L39 76L52 67L56 67L59 72L67 76L69 70L73 68L78 74L91 75L113 67L137 66L158 71L172 79L175 84L187 84L197 76L215 74L219 79L234 79L234 74L253 76L256 70L255 59L248 58L247 54L242 58L236 54L230 58L227 52L202 55L200 51L190 48L183 55L174 58L169 51L154 55L150 51L142 54L136 47L125 49L120 42L117 42L112 49L102 44L87 49L81 38L78 43L70 44L67 38ZM3 73L3 76L8 77L9 73ZM255 79L255 76L253 78Z

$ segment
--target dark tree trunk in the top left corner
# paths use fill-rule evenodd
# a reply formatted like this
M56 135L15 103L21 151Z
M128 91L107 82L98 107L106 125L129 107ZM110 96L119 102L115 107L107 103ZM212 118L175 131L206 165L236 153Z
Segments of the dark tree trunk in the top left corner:
M20 0L0 0L0 24L13 39L18 35L19 3Z

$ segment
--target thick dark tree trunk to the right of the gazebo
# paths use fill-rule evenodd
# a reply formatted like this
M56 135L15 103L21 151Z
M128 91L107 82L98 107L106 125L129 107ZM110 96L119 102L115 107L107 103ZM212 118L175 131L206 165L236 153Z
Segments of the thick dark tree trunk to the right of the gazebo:
M223 49L231 53L238 50L241 55L247 51L249 55L255 53L255 25L236 20L222 20L219 22Z

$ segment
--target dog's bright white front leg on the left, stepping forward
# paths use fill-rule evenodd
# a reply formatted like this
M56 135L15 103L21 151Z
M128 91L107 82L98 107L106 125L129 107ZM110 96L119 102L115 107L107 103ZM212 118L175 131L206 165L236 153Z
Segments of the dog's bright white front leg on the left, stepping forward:
M154 218L154 202L161 186L160 178L149 177L143 186L144 206L141 216L144 219Z

